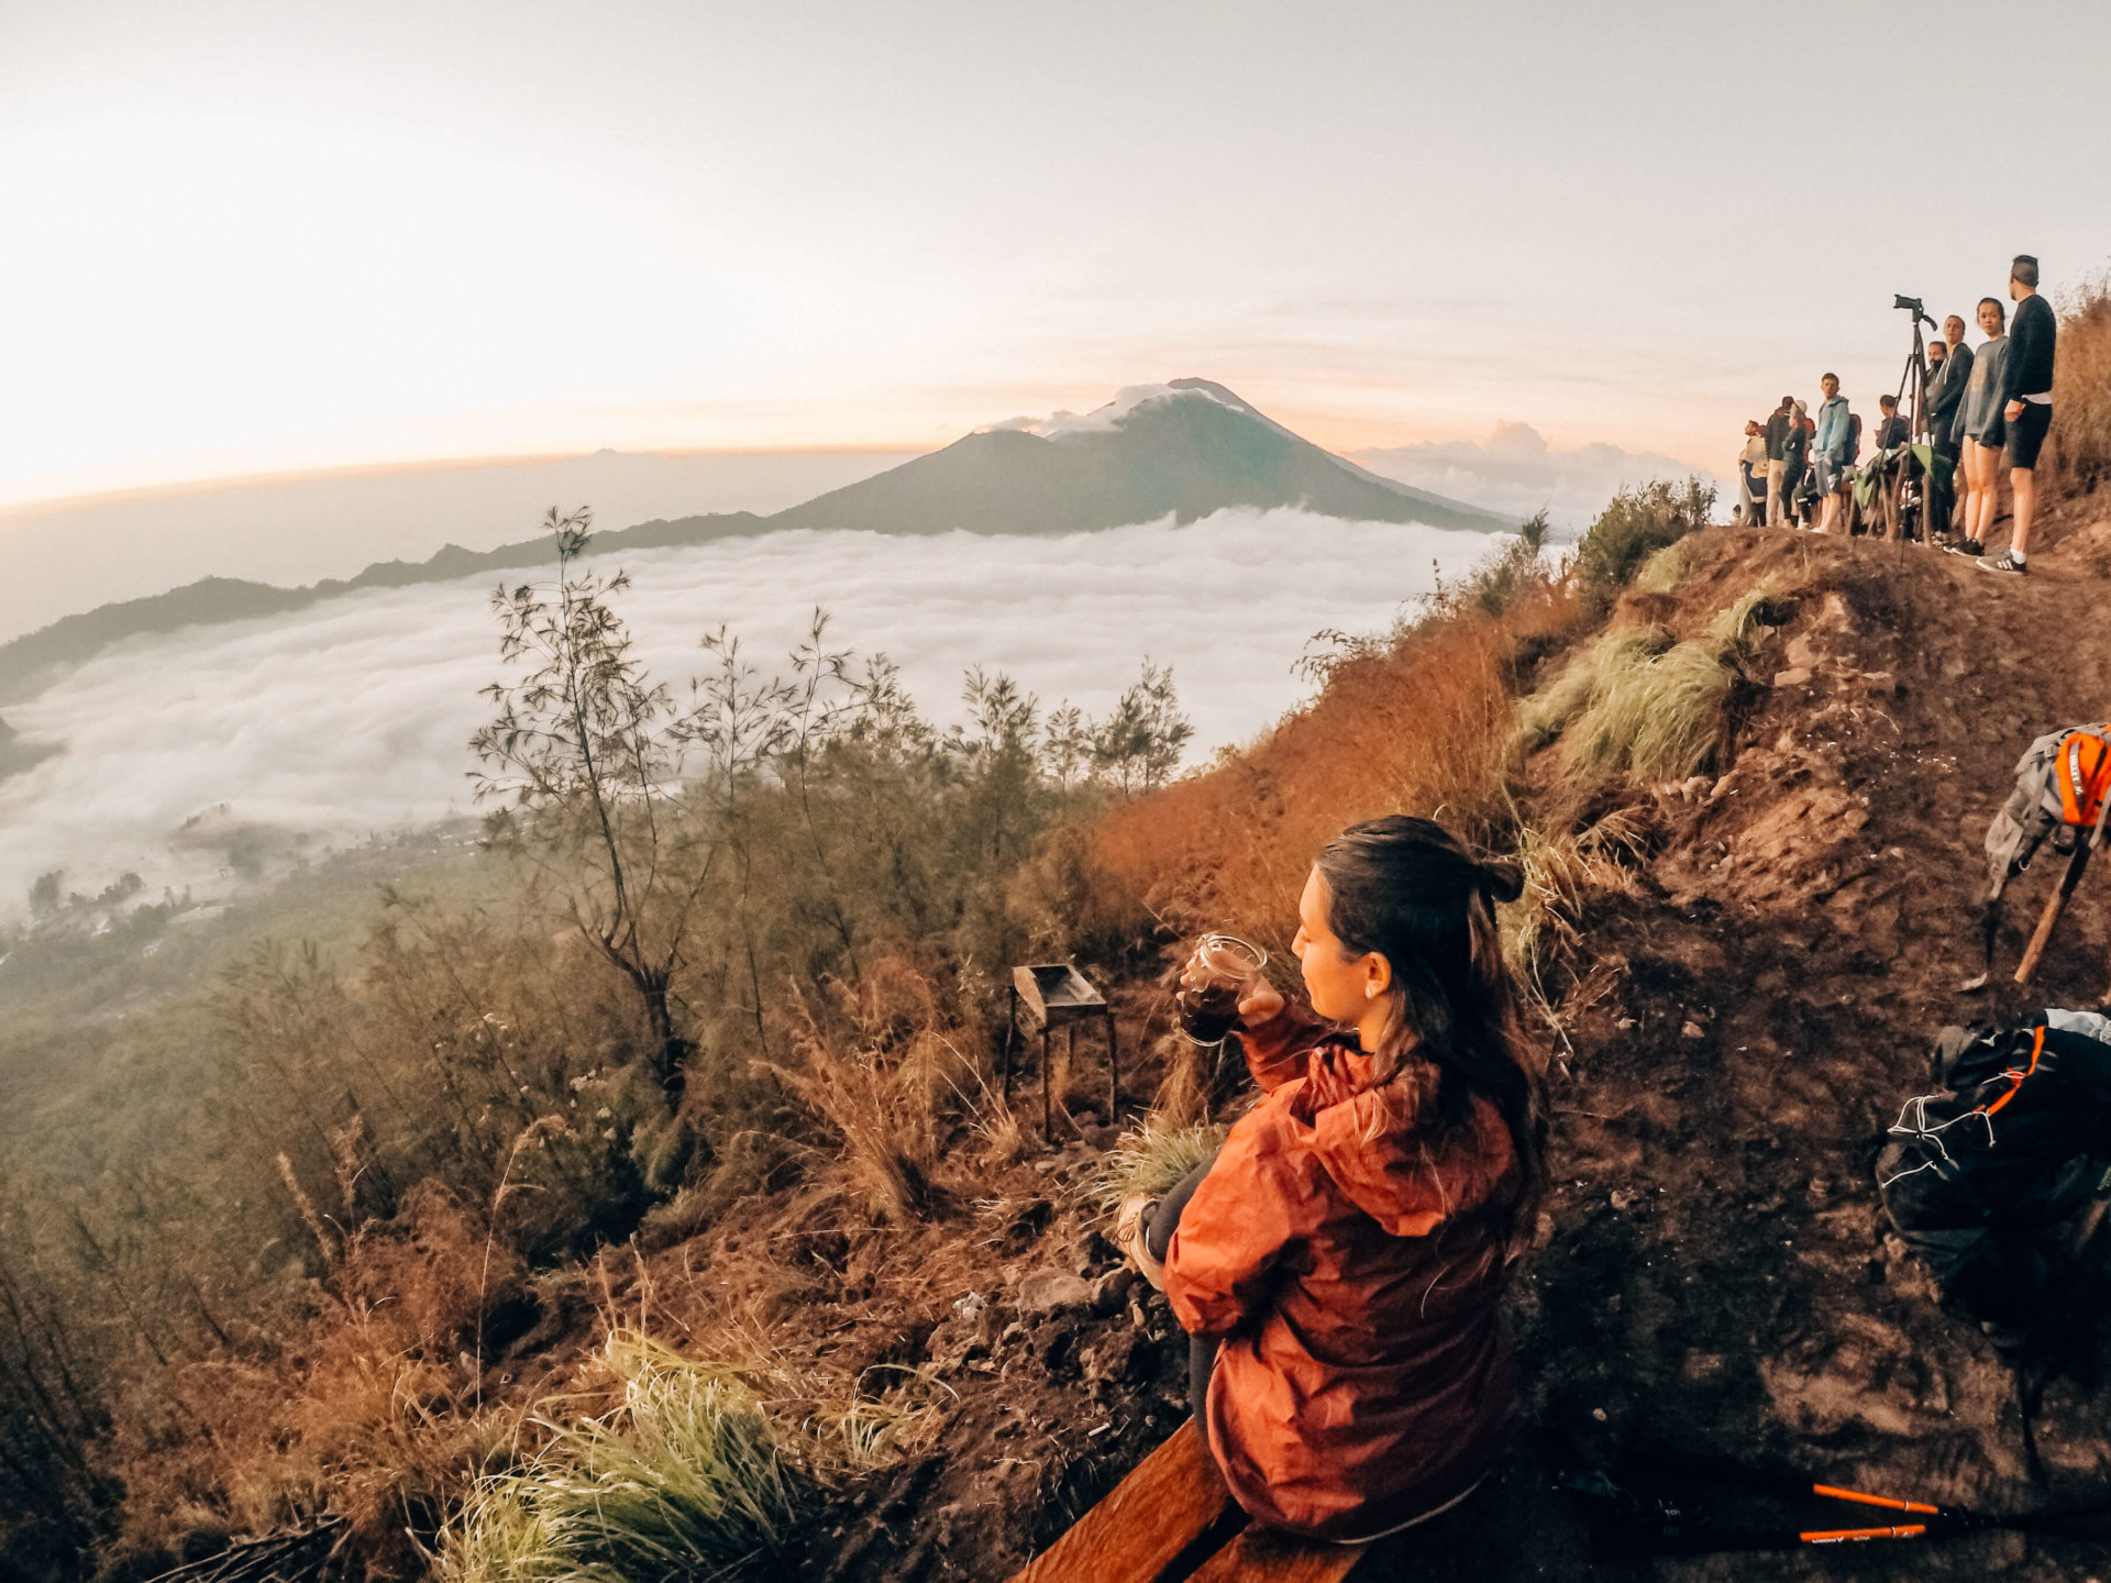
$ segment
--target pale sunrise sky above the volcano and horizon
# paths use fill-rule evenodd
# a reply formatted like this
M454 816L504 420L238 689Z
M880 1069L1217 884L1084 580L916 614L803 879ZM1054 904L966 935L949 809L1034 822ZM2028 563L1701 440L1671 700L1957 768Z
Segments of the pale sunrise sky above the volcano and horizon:
M2107 82L2098 0L0 0L0 504L1184 374L1720 473L1894 291L2111 264Z

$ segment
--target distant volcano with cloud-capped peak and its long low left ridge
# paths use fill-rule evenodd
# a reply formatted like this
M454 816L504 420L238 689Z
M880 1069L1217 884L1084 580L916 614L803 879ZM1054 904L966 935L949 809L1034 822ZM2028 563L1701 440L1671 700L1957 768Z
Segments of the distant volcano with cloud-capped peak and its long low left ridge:
M591 555L707 545L779 528L878 534L1074 534L1127 523L1195 521L1226 507L1300 507L1355 521L1503 532L1514 517L1383 479L1319 450L1222 384L1136 386L1085 416L967 435L878 477L758 517L749 511L654 519L593 534ZM359 589L401 589L479 572L547 566L549 540L492 551L448 545L426 561L376 561L353 578L281 589L209 576L146 599L97 606L0 644L0 703L19 699L99 650L152 633L304 610Z

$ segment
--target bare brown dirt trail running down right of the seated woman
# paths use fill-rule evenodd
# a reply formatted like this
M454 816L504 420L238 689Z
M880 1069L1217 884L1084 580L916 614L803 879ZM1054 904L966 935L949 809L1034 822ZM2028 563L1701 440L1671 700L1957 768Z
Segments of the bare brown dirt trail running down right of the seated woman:
M1657 1442L1989 1507L2111 1492L2111 1397L2088 1380L2050 1389L2048 1482L2027 1480L2008 1370L1885 1245L1870 1182L1883 1127L1927 1087L1936 1028L2111 988L2111 874L2090 876L2035 990L2010 981L2052 882L2041 861L2010 889L1993 990L1957 992L2016 758L2111 711L2092 559L2052 553L2018 583L1887 545L1708 536L1682 608L1754 578L1805 593L1729 770L1666 800L1659 893L1587 922L1602 998L1573 1030L1552 1239L1524 1290L1545 1456ZM2105 1562L1999 1537L1657 1575L2052 1579Z

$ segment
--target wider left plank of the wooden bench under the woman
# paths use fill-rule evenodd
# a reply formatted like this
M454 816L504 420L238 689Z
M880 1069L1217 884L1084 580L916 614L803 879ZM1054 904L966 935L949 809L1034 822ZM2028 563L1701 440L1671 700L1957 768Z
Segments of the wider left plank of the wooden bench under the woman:
M1188 1420L1011 1583L1174 1583L1243 1522Z

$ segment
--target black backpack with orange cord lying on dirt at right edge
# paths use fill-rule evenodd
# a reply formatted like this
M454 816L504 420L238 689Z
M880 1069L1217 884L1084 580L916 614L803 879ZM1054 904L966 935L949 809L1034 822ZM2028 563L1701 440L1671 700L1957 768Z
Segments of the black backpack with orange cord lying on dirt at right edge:
M1944 1028L1936 1074L1891 1125L1877 1190L1944 1311L2022 1351L2103 1288L2111 1017Z

